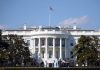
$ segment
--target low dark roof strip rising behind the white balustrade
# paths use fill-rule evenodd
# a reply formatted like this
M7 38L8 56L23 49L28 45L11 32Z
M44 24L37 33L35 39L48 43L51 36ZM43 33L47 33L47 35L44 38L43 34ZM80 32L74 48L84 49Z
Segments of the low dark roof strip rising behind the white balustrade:
M68 27L51 27L51 26L47 26L47 27L31 27L31 28L26 28L26 29L23 29L23 28L20 28L20 29L7 29L7 30L4 30L4 31L32 31L32 30L38 30L38 29L41 29L41 30L66 30L66 31L95 31L95 30L91 30L91 29L80 29L80 28L76 28L76 29L73 29L73 28L68 28Z

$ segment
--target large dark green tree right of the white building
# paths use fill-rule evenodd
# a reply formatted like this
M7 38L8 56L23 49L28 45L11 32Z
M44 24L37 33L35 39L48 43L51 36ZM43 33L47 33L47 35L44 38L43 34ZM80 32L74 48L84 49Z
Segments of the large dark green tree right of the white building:
M87 63L88 65L94 65L99 59L98 51L99 39L95 36L81 36L78 40L78 44L75 45L73 52L74 56L77 56L77 63L79 65Z

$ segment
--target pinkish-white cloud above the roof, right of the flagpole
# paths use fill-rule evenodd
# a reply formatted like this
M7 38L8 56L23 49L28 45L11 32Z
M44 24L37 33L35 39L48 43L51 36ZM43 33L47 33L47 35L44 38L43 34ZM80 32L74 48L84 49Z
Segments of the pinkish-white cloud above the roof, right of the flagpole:
M73 25L73 24L80 25L80 24L87 23L88 21L89 21L89 18L87 16L81 16L81 17L78 17L78 18L65 19L64 21L62 21L60 23L60 25L61 26Z

